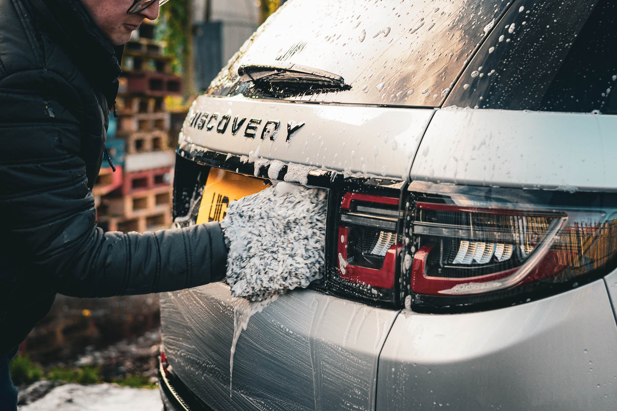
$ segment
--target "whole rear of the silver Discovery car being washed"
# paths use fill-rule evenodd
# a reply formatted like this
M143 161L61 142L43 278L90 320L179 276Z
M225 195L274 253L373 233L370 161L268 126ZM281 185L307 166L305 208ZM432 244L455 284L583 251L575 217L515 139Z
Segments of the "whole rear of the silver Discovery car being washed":
M191 107L175 221L268 180L320 187L323 279L164 295L166 407L614 409L616 12L281 7Z

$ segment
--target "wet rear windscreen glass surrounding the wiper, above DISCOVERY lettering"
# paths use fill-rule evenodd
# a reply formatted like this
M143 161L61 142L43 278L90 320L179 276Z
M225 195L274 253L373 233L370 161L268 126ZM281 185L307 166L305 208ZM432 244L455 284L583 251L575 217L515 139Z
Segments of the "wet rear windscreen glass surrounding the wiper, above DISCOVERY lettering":
M291 0L242 46L210 93L317 102L438 107L511 2ZM350 89L275 94L241 65L287 62L342 76Z

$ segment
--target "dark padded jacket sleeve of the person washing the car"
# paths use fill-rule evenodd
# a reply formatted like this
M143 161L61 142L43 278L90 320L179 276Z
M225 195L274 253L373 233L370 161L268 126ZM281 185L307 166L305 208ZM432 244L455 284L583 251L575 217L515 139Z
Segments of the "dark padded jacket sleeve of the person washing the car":
M93 107L84 107L64 77L35 70L0 81L0 233L10 240L4 258L22 264L23 275L36 273L58 293L79 297L173 291L222 279L226 248L217 222L143 234L97 227L79 155L97 137L85 131L88 119L81 116Z

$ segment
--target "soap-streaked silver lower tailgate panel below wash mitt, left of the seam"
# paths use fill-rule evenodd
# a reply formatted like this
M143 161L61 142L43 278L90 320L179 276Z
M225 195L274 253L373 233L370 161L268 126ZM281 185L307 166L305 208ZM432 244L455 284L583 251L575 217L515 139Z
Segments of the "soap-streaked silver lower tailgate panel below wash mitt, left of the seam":
M379 351L398 311L309 290L249 306L223 283L161 297L173 372L213 409L374 409ZM257 312L235 347L230 394L234 327L251 309Z

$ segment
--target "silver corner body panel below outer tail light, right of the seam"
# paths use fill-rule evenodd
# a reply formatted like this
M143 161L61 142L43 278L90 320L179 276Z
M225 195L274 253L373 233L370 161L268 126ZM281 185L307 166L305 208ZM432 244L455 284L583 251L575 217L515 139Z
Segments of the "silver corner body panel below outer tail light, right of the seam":
M403 311L379 357L377 409L615 410L616 347L602 280L493 311Z

